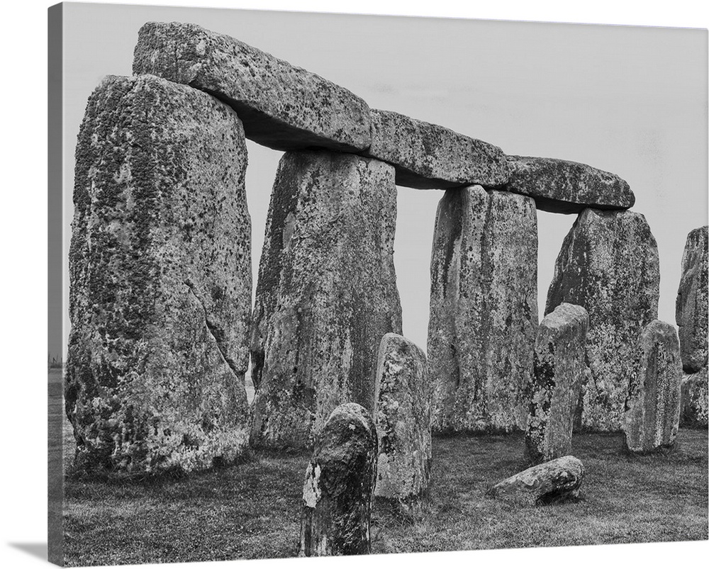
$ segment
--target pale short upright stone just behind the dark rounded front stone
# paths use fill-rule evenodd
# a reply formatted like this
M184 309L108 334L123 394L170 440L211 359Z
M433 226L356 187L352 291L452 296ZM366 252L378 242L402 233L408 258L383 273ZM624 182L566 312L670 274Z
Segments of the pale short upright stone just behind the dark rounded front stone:
M431 468L430 387L426 356L413 342L385 334L376 368L379 436L374 495L408 504L428 490Z

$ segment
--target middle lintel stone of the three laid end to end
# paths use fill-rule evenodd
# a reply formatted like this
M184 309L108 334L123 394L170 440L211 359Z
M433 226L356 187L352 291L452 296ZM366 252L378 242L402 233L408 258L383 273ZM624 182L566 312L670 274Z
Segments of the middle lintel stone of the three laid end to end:
M396 168L396 184L445 189L508 181L505 154L498 147L439 125L391 111L372 109L372 146L367 156Z

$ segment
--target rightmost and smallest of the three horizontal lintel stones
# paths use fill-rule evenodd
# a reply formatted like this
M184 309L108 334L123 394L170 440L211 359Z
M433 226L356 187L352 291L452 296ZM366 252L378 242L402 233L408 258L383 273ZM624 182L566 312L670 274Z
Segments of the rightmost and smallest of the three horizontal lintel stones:
M625 210L635 196L616 174L569 160L508 156L506 190L532 196L537 208L554 213L580 213L585 208Z

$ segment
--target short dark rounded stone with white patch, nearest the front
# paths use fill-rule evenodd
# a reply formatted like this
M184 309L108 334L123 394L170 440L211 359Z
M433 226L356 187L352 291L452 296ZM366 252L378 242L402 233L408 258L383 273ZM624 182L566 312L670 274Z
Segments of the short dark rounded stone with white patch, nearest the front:
M306 468L301 557L372 552L369 524L376 478L376 429L357 403L337 407Z

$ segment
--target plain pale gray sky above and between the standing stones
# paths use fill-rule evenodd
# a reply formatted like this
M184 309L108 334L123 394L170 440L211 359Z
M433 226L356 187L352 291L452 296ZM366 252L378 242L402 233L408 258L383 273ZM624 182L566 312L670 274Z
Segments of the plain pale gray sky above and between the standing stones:
M444 125L508 154L619 174L635 192L633 210L657 238L659 318L674 325L686 235L708 218L705 30L65 4L65 275L74 147L86 100L105 75L130 74L146 21L192 22L232 35L347 87L369 106ZM252 142L248 150L256 276L281 153ZM403 332L423 349L441 197L398 191L394 261ZM540 310L575 218L538 212ZM65 298L67 286L65 278Z

